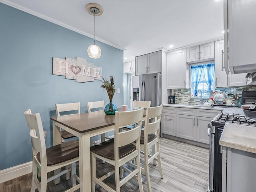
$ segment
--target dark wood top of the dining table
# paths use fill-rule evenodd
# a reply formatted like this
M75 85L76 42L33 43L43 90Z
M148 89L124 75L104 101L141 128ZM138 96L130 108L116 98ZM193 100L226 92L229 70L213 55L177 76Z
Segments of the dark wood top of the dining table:
M118 108L118 111L122 111L122 108ZM145 115L146 110L144 110L144 116ZM115 116L106 115L104 111L51 117L50 119L79 133L84 133L115 124Z

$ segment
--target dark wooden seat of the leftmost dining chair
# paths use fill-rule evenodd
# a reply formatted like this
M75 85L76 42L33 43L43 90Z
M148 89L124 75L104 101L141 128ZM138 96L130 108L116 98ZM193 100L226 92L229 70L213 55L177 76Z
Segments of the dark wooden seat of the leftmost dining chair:
M78 141L73 140L64 142L56 146L52 146L46 149L47 166L52 166L58 163L62 163L79 156ZM40 160L40 153L36 155L38 161Z

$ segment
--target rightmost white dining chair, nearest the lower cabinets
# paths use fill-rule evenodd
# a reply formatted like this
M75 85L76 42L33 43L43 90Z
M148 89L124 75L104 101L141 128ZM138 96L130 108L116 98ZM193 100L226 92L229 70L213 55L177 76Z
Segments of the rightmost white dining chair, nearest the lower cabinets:
M148 192L152 192L151 184L150 184L150 173L149 173L150 162L152 162L153 160L156 160L158 162L160 176L161 178L164 178L163 171L162 171L161 158L160 158L160 143L159 143L162 108L163 108L162 104L157 107L147 107L145 127L144 127L144 130L141 131L141 135L140 135L140 148L143 149L141 153L144 154L144 164L145 164L145 168L141 168L141 169L142 169L142 172L146 173ZM151 121L150 119L154 119L154 121ZM144 153L145 151L150 150L150 148L155 144L156 144L156 152L154 154L150 155L148 153Z

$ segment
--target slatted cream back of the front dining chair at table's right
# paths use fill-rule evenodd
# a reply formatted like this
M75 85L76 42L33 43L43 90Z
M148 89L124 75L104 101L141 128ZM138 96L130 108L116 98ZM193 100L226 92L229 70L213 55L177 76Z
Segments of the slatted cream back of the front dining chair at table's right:
M140 139L143 110L144 108L126 112L116 112L115 145L117 144L118 147L121 147ZM135 124L134 126L136 127L128 131L119 132L120 128L130 124Z

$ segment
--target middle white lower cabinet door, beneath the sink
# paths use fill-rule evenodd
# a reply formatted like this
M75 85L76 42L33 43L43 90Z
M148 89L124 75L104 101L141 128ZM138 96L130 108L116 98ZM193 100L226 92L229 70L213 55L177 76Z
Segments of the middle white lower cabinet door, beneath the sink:
M196 140L196 116L176 115L176 136Z

